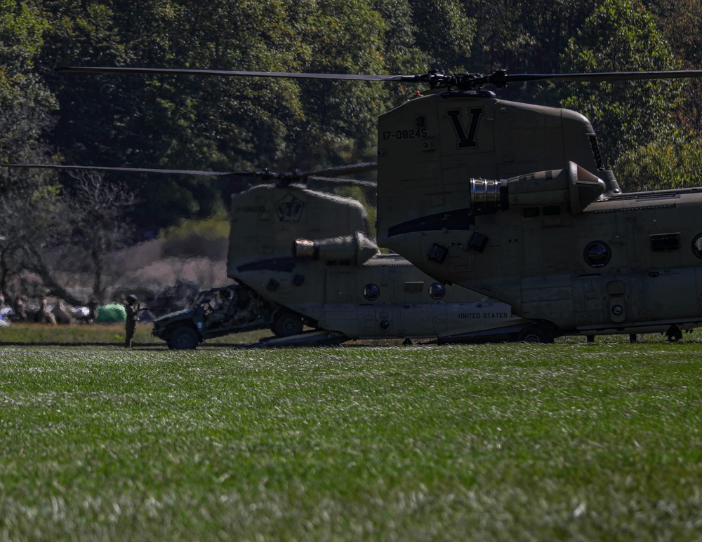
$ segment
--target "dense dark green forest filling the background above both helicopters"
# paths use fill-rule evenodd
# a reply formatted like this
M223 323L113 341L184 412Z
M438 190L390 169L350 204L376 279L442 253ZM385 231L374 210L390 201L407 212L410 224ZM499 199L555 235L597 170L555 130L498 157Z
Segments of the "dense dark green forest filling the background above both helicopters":
M352 163L372 159L376 116L413 92L349 81L53 72L60 65L373 74L699 67L701 11L700 0L0 0L0 159L55 154L84 165L227 170ZM620 158L633 163L630 156L673 138L684 141L677 152L698 154L696 83L528 85L502 96L583 111L615 170ZM692 166L684 157L676 163ZM635 168L621 177L642 184ZM671 177L689 184L696 170ZM138 192L142 230L211 215L235 188L208 178L122 180ZM61 181L70 191L72 179Z

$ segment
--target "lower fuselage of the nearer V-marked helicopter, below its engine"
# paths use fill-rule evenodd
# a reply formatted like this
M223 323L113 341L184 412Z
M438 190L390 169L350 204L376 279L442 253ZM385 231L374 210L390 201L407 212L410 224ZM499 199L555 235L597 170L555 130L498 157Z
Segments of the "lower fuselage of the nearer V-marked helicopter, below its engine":
M702 320L701 215L696 189L624 194L577 215L565 202L510 205L469 214L465 230L404 233L393 243L430 276L524 318L563 331L643 332Z

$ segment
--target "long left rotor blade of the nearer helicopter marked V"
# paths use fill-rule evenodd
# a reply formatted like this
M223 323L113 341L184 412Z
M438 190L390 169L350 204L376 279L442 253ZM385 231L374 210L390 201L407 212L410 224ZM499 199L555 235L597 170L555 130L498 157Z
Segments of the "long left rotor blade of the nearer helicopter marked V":
M178 69L178 68L128 68L128 67L84 67L62 66L56 72L79 72L86 74L136 74L136 75L204 75L204 76L251 76L284 77L289 79L349 79L352 81L420 81L418 75L364 75L364 74L302 74L296 72L235 72L226 69Z

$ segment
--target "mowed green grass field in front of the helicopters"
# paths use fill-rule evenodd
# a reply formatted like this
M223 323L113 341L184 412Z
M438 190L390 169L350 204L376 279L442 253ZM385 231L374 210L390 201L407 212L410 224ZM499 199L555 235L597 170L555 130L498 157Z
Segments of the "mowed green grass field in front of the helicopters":
M695 540L702 344L0 345L0 539Z

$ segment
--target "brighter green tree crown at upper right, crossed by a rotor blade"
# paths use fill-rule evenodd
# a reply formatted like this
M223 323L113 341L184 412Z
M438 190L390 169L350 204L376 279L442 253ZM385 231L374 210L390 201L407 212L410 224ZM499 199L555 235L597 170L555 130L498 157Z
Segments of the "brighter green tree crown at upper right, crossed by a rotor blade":
M678 67L652 15L628 0L604 1L570 39L564 60L576 72ZM626 149L659 135L670 137L680 88L675 81L584 83L563 102L590 118L609 158L616 160Z

